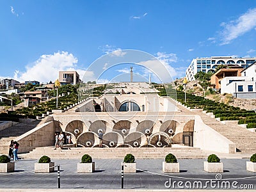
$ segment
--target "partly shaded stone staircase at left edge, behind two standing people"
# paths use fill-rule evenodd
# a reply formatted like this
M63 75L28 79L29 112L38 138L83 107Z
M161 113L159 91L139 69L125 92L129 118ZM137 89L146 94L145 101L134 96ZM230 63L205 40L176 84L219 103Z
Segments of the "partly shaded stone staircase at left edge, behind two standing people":
M34 129L40 120L30 123L19 123L0 131L0 154L8 154L8 148L11 140L15 140L18 136Z

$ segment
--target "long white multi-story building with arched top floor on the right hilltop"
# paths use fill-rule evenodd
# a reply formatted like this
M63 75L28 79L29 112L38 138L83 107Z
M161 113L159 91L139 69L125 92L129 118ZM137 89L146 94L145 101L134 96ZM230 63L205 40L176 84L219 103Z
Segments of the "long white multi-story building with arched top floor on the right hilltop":
M250 66L256 58L232 58L230 56L212 56L211 58L196 58L186 70L188 81L195 80L197 72L214 72L218 65L239 65L243 68Z

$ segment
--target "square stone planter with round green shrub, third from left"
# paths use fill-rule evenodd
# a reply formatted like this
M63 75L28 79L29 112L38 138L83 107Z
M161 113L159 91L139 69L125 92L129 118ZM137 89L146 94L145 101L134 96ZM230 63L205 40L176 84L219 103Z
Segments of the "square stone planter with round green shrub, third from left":
M84 154L81 163L77 163L77 173L92 173L95 171L95 162L92 162L92 157Z

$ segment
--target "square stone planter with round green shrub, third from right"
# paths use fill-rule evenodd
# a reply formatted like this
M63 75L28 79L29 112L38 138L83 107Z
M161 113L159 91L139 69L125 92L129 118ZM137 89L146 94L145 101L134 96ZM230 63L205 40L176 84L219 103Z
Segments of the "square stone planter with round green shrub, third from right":
M163 161L164 173L179 173L180 164L177 162L176 157L173 154L168 154Z

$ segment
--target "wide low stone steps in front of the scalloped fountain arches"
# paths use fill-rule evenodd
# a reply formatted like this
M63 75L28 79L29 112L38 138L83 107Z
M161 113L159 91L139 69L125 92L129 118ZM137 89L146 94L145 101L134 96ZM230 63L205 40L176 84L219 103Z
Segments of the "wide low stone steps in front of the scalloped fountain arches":
M206 158L208 154L200 148L193 147L164 147L164 148L57 148L38 147L28 154L22 154L25 159L39 159L42 156L51 158L78 158L84 154L89 154L93 158L124 158L126 154L132 154L136 158L164 158L167 154L172 153L177 158Z

